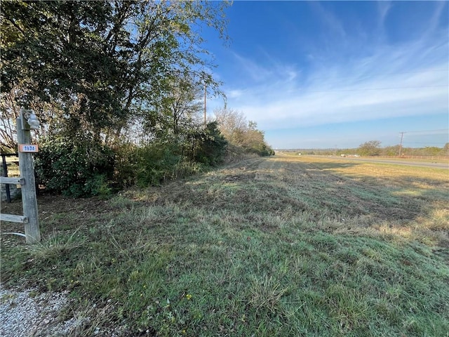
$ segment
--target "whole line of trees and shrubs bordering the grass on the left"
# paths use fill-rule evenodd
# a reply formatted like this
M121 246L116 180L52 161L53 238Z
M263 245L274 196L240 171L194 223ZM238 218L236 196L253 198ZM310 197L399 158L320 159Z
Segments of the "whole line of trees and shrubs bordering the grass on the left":
M201 32L226 44L229 5L2 1L2 149L17 146L20 108L34 110L38 178L74 196L185 176L220 163L231 145L271 154L255 123L234 134L200 117L203 90L225 99Z

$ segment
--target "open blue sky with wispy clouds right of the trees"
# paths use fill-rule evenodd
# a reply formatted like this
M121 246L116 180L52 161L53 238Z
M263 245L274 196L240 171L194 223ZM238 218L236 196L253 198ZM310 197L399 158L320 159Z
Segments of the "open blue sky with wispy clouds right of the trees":
M206 32L214 76L272 147L449 141L448 2L234 1L227 18L228 46Z

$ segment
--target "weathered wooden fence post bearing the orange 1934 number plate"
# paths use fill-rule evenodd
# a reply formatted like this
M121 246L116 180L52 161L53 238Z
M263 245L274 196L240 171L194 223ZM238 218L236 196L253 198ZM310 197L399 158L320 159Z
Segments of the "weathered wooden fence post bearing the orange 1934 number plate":
M20 117L16 119L18 145L31 144L31 132L26 126L22 110ZM23 215L28 218L25 223L25 239L27 244L41 242L41 231L39 229L39 212L37 210L36 182L34 179L33 154L19 151L20 177L25 179L22 185Z

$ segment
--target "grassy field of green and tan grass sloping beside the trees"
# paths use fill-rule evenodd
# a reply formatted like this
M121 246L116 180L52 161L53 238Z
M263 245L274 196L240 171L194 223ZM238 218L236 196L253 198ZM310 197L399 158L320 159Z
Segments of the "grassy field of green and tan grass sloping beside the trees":
M2 234L1 282L68 289L71 336L449 336L448 187L444 169L286 155L43 195L43 242Z

